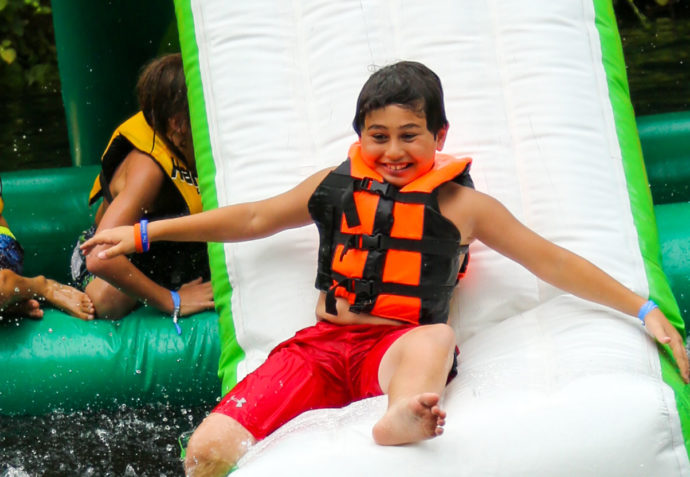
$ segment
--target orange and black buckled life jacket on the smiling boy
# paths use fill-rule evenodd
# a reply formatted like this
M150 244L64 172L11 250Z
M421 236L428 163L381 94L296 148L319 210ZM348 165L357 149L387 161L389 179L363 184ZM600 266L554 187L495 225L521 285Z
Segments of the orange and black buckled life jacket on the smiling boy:
M397 188L361 159L360 144L309 200L319 229L316 287L355 313L414 324L445 323L450 296L467 266L467 246L439 209L446 182L473 187L471 159L437 154L433 169ZM463 262L460 258L463 256Z

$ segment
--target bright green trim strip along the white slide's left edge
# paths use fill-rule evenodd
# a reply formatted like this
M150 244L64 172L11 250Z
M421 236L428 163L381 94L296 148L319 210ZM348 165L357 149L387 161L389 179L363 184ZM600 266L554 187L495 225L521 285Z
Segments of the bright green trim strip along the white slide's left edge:
M196 43L194 29L194 15L190 0L176 0L175 13L177 15L178 31L180 32L180 46L185 66L187 91L189 95L189 112L194 137L194 154L199 171L199 188L204 210L218 208L218 194L215 177L216 166L213 160L211 138L209 136L204 89L199 66L199 50ZM209 244L209 260L211 265L211 282L213 295L216 297L216 310L220 315L221 347L218 364L218 377L222 382L224 395L237 384L237 363L244 359L244 350L237 342L235 322L232 318L232 288L226 268L225 249L223 244Z

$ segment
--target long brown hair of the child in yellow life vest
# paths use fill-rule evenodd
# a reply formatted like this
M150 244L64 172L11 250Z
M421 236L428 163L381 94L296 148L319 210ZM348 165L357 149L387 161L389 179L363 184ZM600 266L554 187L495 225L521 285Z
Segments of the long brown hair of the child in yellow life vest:
M156 58L144 66L137 81L139 107L156 133L168 133L168 119L178 116L189 125L187 83L179 53Z

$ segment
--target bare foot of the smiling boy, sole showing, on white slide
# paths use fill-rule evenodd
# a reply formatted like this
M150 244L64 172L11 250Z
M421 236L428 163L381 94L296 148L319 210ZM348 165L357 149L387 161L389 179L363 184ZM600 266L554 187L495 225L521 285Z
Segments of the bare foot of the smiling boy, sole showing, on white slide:
M446 412L438 406L440 399L438 394L423 393L393 404L374 425L374 441L393 446L440 436L446 423Z

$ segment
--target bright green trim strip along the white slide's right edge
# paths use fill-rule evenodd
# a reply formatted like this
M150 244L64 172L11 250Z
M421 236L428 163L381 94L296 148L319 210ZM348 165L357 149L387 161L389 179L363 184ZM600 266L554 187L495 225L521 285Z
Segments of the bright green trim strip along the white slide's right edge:
M652 196L642 159L635 116L630 102L628 81L623 60L623 48L618 34L613 5L610 0L595 0L596 27L602 45L602 62L609 86L609 99L613 108L623 167L628 183L631 208L638 231L642 258L645 263L649 296L659 304L669 321L685 336L685 324L661 267L661 251L657 235ZM690 395L680 378L668 347L659 349L662 376L673 389L685 449L690 457Z

